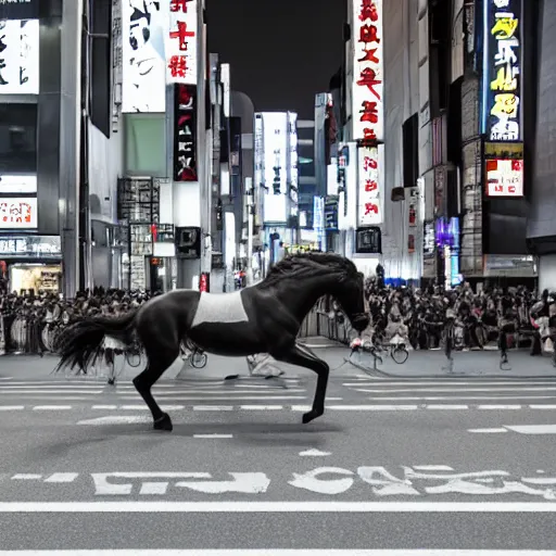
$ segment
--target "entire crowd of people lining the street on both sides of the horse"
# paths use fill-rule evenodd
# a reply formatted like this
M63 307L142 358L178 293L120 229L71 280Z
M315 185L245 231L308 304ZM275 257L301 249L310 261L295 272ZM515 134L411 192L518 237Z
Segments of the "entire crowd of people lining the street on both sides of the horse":
M525 287L473 292L468 283L450 291L393 288L376 277L366 281L365 290L370 330L388 341L397 337L414 350L440 349L452 324L455 350L483 350L488 344L507 348L519 342L530 345L531 355L554 353L556 293L545 290L539 295ZM42 355L53 350L61 327L84 316L126 313L151 296L144 291L103 288L79 292L71 301L49 292L4 292L0 294L0 350ZM501 346L501 341L506 344Z

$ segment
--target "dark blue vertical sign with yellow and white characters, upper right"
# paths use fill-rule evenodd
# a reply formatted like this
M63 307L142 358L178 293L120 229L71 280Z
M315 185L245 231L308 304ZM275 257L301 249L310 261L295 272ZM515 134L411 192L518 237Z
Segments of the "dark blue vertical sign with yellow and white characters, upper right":
M521 0L485 0L483 132L490 141L521 140Z

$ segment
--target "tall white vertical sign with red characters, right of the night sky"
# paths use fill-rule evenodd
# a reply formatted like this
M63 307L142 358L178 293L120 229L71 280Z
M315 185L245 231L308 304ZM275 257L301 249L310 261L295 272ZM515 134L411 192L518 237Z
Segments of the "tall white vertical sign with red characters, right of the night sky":
M354 0L353 139L384 140L382 0Z

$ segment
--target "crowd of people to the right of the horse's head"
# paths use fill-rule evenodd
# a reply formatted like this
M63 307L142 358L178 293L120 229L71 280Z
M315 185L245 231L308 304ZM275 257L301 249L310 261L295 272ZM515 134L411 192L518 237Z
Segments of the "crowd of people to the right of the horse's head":
M556 293L541 295L526 287L473 292L464 282L453 290L389 288L376 278L366 282L371 329L403 339L414 350L440 349L448 327L456 350L483 350L494 343L505 351L529 344L531 355L554 353Z

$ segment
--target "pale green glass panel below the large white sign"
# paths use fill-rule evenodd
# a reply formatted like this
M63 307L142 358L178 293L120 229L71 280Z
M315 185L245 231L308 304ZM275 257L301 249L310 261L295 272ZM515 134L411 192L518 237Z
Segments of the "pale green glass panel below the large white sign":
M165 177L165 114L124 114L124 117L126 174Z

